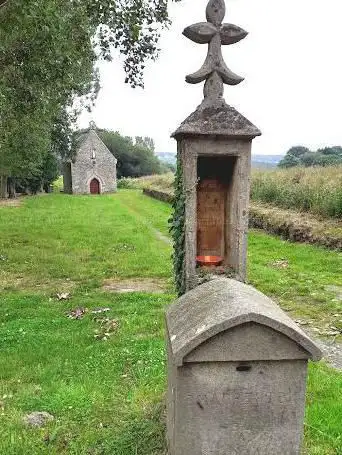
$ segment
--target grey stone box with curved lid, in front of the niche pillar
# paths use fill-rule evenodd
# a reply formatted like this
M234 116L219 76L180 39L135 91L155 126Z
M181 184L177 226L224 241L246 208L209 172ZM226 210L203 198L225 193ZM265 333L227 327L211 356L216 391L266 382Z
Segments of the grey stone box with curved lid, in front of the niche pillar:
M216 279L166 315L170 455L299 455L321 352L268 297Z

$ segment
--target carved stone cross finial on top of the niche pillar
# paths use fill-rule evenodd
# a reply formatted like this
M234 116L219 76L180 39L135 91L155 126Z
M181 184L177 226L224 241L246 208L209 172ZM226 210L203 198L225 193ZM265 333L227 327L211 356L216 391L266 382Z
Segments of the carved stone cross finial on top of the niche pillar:
M190 84L206 81L204 97L214 101L223 96L223 84L237 85L243 78L234 74L226 65L222 56L221 45L234 44L244 39L247 32L237 25L222 24L226 12L224 0L209 0L207 22L186 27L183 35L195 43L208 43L208 54L202 68L186 76Z

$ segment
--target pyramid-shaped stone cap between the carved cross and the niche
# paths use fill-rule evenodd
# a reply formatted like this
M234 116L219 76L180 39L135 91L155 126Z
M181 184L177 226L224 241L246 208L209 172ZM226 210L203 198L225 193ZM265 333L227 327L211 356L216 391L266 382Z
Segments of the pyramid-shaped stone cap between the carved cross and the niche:
M221 99L210 104L204 100L195 112L184 120L172 137L177 139L188 135L253 139L261 136L261 131Z

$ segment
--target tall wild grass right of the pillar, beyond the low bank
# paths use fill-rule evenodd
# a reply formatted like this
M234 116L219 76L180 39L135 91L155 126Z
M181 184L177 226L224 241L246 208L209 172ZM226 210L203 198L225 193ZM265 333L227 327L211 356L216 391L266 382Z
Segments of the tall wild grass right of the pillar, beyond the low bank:
M342 166L253 171L251 198L342 218Z

